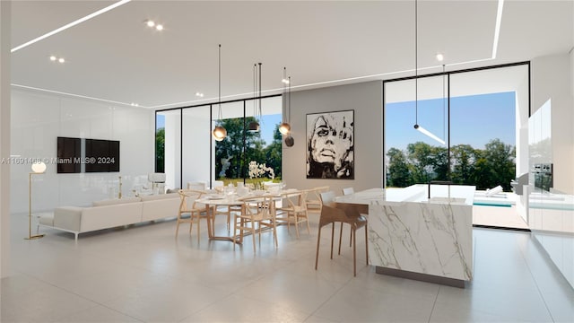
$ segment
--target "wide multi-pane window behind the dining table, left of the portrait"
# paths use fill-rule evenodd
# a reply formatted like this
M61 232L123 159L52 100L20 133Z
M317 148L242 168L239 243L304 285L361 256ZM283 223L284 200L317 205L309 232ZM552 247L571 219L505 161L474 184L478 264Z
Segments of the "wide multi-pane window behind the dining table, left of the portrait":
M188 182L224 184L248 180L248 162L266 163L281 178L281 96L262 98L262 116L257 113L259 132L248 132L255 120L253 100L222 102L221 124L227 130L222 142L211 130L219 105L203 105L156 112L156 171L166 173L167 188L185 188Z

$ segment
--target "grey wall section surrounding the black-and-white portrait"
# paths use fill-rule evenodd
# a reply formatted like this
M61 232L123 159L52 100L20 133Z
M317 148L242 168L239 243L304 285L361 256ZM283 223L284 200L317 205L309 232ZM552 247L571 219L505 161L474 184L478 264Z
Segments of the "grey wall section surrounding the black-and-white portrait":
M306 122L308 113L354 109L354 179L307 179ZM381 81L291 92L292 147L283 142L283 181L288 188L328 185L337 195L383 187L383 86Z

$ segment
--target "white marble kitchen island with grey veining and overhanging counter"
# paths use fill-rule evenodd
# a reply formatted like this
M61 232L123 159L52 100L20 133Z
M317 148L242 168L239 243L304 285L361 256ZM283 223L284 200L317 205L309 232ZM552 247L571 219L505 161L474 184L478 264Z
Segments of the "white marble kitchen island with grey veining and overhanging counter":
M417 184L338 196L369 214L369 262L378 274L464 287L473 277L474 186Z

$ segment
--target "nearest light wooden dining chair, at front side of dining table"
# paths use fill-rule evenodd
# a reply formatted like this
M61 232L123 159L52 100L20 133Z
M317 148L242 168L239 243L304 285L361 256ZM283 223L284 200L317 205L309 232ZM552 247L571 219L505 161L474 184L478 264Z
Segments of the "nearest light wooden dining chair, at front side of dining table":
M243 241L244 232L248 231L253 238L253 253L256 253L256 234L261 243L261 231L270 228L273 231L275 248L279 248L277 242L277 222L275 220L274 196L258 196L243 199L242 212L234 215L233 250L238 242ZM239 240L238 232L239 231Z

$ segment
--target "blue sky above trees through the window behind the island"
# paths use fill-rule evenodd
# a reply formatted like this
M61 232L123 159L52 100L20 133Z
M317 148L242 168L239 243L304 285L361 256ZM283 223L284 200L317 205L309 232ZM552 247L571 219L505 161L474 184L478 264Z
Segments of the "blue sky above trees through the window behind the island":
M443 100L419 100L418 110L419 125L444 139L448 124L446 113L443 113ZM505 144L515 145L515 115L515 92L451 98L451 145L470 144L474 148L483 149L484 144L494 138L500 138ZM387 104L386 118L387 150L391 147L405 149L407 144L417 141L441 145L413 128L414 101Z

